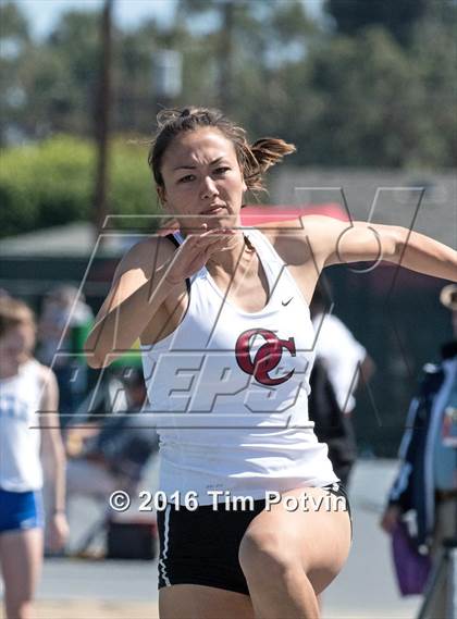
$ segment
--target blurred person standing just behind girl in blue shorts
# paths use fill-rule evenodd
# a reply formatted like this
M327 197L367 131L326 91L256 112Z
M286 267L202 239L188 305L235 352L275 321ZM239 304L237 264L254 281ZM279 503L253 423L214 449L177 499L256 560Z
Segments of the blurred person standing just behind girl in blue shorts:
M50 290L44 298L38 321L37 357L52 367L60 392L60 421L64 428L84 398L87 386L87 366L72 352L72 330L89 327L94 313L83 293L71 285ZM64 337L61 343L62 335ZM55 358L55 354L59 354ZM66 355L65 355L66 354Z

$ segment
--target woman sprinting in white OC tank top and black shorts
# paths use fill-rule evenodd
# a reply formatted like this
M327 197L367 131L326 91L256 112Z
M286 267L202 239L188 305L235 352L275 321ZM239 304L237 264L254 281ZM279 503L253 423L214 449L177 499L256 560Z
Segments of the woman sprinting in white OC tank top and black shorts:
M307 417L319 274L382 256L452 278L456 252L399 227L314 215L244 234L245 191L294 147L250 146L214 110L158 120L149 164L180 233L128 251L86 352L101 368L140 338L169 498L160 616L316 618L351 538L344 491Z

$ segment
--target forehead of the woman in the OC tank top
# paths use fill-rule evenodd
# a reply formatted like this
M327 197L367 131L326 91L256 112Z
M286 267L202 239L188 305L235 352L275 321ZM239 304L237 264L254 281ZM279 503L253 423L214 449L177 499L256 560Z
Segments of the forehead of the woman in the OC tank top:
M209 163L221 157L236 160L233 143L219 129L205 127L176 136L165 150L163 166L174 169L180 164Z

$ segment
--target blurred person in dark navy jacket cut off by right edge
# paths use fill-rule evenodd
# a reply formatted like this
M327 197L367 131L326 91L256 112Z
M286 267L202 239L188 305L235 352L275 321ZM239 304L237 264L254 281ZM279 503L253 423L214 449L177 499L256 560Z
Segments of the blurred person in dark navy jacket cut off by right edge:
M442 346L439 363L423 368L402 440L400 467L381 519L391 535L400 521L408 521L411 544L434 562L443 540L457 535L457 447L446 443L453 424L448 413L454 411L455 424L457 409L457 285L445 286L440 300L452 312L453 339ZM445 604L441 587L430 617L446 617Z

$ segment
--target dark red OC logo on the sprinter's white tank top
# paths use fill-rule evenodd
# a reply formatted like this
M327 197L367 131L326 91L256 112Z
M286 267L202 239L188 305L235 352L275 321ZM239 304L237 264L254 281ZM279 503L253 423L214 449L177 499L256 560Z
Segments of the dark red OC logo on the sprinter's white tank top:
M251 360L250 345L256 335L261 335L265 343L260 346L254 360ZM280 376L279 379L271 379L268 375L281 361L283 348L287 348L292 357L295 357L296 349L293 337L280 339L275 333L267 329L249 329L242 333L236 341L236 361L244 372L254 376L262 385L280 385L288 381L295 372L295 370L291 370L285 376Z

